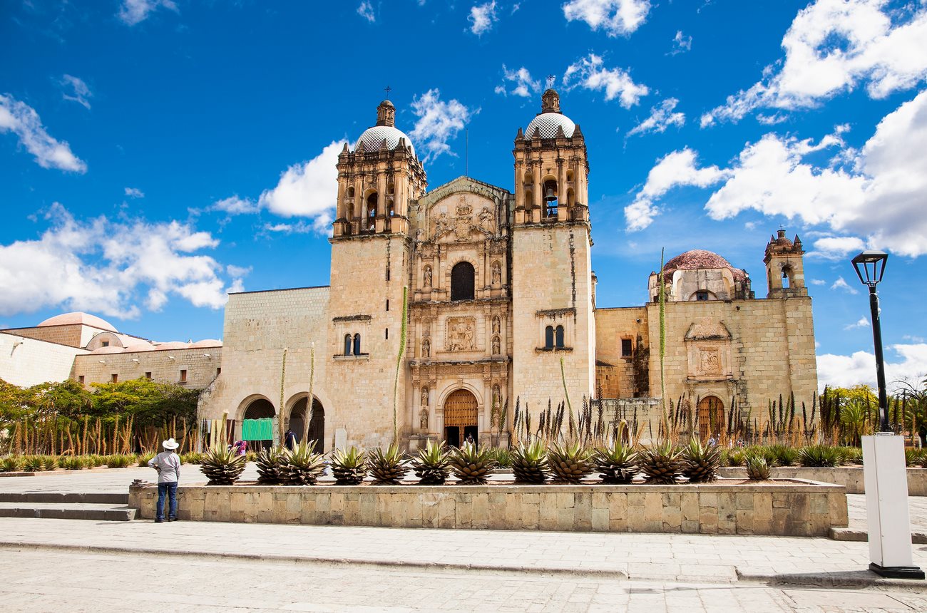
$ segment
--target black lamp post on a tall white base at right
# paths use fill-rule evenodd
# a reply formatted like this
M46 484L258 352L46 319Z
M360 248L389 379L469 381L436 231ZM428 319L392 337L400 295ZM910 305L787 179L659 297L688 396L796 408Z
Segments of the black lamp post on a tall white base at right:
M888 426L888 395L885 393L885 362L882 326L876 285L885 274L888 254L864 251L853 258L859 281L869 287L872 341L875 344L876 381L879 385L879 432L863 438L863 479L866 486L866 517L870 544L870 570L883 577L923 579L924 571L911 555L911 523L908 513L908 470L905 442Z

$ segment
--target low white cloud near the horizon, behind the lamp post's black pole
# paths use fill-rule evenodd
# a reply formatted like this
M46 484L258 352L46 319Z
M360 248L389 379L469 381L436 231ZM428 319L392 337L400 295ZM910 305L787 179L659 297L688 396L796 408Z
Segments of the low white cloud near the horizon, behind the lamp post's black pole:
M920 382L927 374L927 344L892 344L886 347L885 381L891 394L897 382ZM892 354L896 355L895 361ZM818 356L818 384L836 387L850 387L857 383L876 384L875 356L866 351L854 352L851 356L825 354Z

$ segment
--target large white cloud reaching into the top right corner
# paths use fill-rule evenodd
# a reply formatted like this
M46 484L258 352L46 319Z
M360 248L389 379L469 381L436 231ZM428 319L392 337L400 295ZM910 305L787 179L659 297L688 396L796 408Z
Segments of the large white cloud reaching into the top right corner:
M792 110L866 84L873 98L927 77L927 9L894 10L886 0L818 0L796 15L782 38L785 56L764 78L703 116L737 121L756 108ZM775 116L774 116L775 117Z

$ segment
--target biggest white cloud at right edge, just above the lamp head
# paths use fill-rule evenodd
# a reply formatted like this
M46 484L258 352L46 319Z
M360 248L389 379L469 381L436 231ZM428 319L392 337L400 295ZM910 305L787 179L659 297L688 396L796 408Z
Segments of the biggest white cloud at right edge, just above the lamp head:
M768 133L746 144L705 210L713 219L729 219L755 209L860 237L870 248L927 253L927 92L886 115L859 150L844 144L844 130L817 143ZM835 163L821 167L809 160L821 153L832 153ZM844 238L824 246L858 243Z

